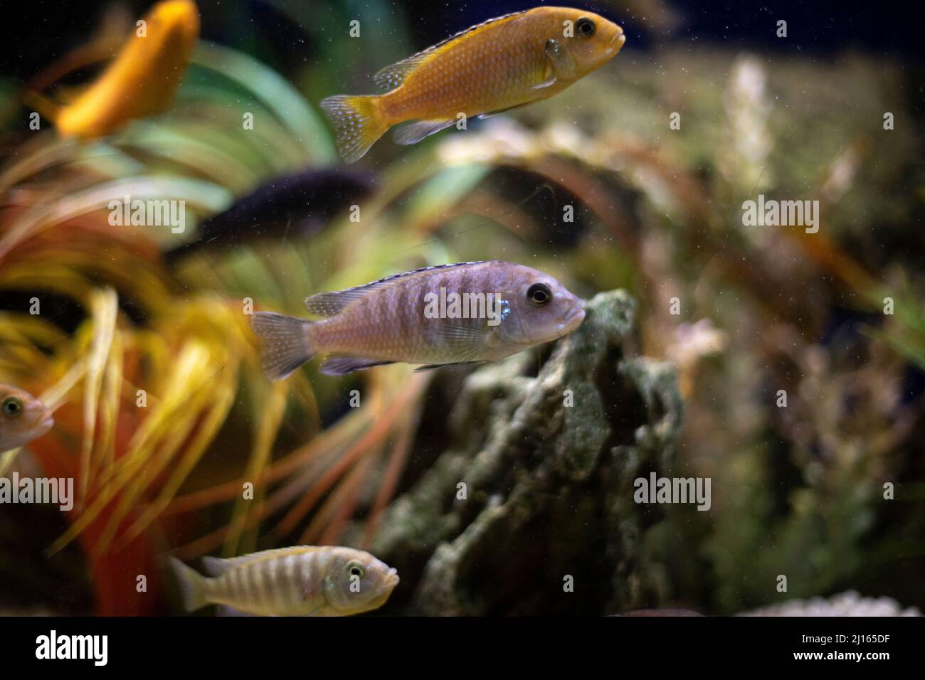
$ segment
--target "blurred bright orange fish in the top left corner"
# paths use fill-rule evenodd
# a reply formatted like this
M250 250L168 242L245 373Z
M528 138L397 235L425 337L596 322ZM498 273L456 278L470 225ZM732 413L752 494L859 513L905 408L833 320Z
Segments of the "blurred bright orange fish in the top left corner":
M170 104L199 39L199 10L191 0L165 0L142 20L103 75L72 103L27 95L62 137L102 137Z

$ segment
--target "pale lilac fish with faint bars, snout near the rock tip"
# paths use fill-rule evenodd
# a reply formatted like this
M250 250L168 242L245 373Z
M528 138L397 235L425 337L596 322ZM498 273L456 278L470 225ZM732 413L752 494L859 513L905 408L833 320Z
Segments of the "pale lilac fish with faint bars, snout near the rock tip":
M316 353L335 354L321 366L329 376L396 362L436 368L496 361L561 338L585 318L582 301L555 278L498 260L415 269L313 295L305 306L327 318L251 318L271 380Z

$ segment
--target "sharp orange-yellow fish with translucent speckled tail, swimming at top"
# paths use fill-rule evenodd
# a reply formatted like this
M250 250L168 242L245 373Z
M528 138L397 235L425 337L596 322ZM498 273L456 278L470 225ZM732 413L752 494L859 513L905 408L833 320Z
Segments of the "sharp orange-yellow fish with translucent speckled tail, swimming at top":
M388 93L328 97L321 106L340 155L359 160L393 125L420 142L465 117L486 116L561 93L623 47L623 29L594 12L536 7L490 19L376 73Z

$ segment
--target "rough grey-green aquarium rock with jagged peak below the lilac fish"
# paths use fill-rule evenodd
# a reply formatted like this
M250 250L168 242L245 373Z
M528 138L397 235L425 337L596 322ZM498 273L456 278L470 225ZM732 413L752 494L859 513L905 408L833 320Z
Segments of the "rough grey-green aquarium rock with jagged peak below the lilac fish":
M671 468L681 398L672 365L624 356L635 312L625 291L586 312L535 376L536 355L523 352L465 378L453 446L392 502L373 545L413 585L388 612L638 605L642 536L660 510L634 502L634 480Z

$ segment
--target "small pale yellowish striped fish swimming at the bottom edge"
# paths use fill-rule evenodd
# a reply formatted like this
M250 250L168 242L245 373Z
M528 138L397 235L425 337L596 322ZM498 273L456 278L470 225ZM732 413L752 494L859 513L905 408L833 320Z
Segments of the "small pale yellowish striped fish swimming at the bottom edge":
M298 546L222 560L203 558L208 578L171 557L188 612L224 604L259 616L349 616L378 609L399 584L368 552Z

